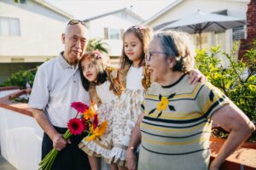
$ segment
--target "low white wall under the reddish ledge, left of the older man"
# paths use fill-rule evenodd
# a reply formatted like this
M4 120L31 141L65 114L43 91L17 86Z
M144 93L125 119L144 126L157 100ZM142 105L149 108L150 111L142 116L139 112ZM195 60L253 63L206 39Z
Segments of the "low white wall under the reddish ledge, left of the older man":
M43 130L31 116L0 107L1 155L19 170L36 170Z

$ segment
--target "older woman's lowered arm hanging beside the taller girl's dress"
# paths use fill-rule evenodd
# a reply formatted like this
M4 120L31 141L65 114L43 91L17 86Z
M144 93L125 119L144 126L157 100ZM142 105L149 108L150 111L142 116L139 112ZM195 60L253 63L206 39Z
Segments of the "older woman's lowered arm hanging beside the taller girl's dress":
M129 170L137 169L137 156L135 155L135 151L137 150L137 146L141 143L140 124L143 122L143 116L143 113L141 113L137 119L135 127L132 129L130 144L126 152L126 160Z

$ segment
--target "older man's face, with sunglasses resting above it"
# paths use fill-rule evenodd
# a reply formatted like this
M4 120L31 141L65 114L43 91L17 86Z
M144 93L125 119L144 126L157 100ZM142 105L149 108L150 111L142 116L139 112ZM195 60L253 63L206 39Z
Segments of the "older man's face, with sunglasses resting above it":
M81 55L84 54L89 41L88 35L87 28L81 24L68 26L66 34L62 34L62 42L65 45L64 57L69 64L76 64Z

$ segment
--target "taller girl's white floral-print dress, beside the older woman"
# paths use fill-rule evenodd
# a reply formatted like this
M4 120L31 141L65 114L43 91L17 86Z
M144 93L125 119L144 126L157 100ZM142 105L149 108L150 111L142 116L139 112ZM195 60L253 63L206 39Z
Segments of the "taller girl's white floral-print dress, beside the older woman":
M126 89L119 98L116 116L113 116L113 149L109 163L126 166L125 154L131 139L131 130L142 113L140 107L145 89L142 84L143 67L130 67L126 77Z

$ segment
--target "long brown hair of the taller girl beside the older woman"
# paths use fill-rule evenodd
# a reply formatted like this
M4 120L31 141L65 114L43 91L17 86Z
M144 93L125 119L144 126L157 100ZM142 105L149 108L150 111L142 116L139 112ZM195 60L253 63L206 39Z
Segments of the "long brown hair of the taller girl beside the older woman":
M133 33L143 43L143 53L140 56L139 66L145 65L145 54L148 53L148 44L151 41L153 35L152 29L144 26L131 26L125 31L123 36L122 56L119 63L120 69L125 69L126 65L129 67L132 65L132 61L125 54L125 35L128 33Z

